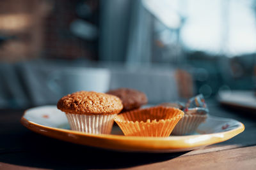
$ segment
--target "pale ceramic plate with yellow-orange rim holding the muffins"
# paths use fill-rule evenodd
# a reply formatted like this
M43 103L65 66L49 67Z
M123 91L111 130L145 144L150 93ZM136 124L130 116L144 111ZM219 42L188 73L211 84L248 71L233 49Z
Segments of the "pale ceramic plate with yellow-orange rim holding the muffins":
M111 134L86 134L71 131L65 113L56 106L40 106L26 110L21 123L31 131L51 138L95 146L111 150L129 152L182 152L202 146L220 143L244 131L241 122L230 118L209 117L196 133L188 136L168 138L124 136L119 127L114 126Z

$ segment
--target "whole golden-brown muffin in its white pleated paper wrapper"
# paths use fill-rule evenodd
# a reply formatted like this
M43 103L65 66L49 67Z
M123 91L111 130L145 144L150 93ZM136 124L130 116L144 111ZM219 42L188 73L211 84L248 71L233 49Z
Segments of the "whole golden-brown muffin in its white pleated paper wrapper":
M123 109L116 96L86 91L62 97L57 107L65 112L72 130L92 134L110 134L113 118Z

